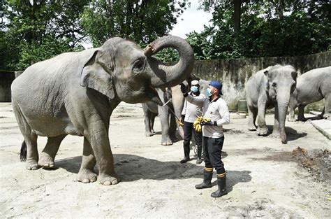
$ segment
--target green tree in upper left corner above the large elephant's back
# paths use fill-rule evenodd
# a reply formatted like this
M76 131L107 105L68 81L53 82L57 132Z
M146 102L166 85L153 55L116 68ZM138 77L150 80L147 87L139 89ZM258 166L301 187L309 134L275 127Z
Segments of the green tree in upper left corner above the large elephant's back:
M82 48L86 36L80 15L87 0L7 0L1 30L7 59L3 69L22 70L31 63ZM1 44L0 44L1 45Z

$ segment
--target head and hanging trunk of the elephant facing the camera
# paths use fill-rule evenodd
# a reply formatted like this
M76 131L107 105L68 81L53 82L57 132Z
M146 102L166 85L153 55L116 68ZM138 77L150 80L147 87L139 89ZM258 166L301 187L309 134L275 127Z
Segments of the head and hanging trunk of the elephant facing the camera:
M286 113L290 102L290 94L295 90L297 71L290 65L275 65L264 73L265 77L267 77L267 96L274 103L275 115L279 122L281 142L286 143Z

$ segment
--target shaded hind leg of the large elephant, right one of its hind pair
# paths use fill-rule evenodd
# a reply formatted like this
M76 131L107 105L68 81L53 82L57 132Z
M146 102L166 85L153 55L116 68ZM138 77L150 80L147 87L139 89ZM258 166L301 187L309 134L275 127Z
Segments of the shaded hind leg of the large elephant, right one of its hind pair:
M44 150L41 152L41 157L38 161L39 166L45 169L53 169L54 168L54 159L57 155L57 151L59 150L61 141L66 137L66 134L62 134L59 136L48 137L46 146Z

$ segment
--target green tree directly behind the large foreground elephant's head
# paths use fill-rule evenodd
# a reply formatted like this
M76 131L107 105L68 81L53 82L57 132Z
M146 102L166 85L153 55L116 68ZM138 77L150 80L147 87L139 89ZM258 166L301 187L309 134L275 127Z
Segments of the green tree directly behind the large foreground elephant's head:
M84 10L82 24L94 46L112 36L146 45L168 34L186 6L188 0L93 0Z

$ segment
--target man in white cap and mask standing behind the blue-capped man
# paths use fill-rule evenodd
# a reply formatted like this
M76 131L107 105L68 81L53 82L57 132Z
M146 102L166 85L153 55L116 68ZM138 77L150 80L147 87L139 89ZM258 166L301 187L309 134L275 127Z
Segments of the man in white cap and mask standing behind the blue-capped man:
M191 92L189 95L196 98L205 98L204 94L200 94L199 91L199 82L198 80L192 80L191 81ZM184 108L182 111L182 118L184 118L184 159L180 162L182 164L188 162L190 160L190 141L192 138L192 132L194 139L196 140L196 145L198 146L198 158L196 160L196 164L201 164L201 153L203 150L203 142L202 142L202 136L203 134L201 132L196 132L195 129L193 129L193 122L203 114L203 108L200 106L196 106L194 104L189 103L188 101L184 102Z

